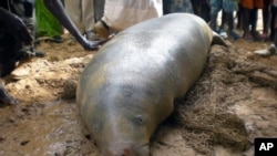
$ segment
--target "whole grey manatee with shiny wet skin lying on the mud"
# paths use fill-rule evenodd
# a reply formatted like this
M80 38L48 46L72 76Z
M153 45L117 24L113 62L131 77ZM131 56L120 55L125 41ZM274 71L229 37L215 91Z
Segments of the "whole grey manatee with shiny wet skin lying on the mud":
M101 155L150 155L152 134L215 43L226 45L205 21L176 13L131 27L100 49L80 77L76 102Z

